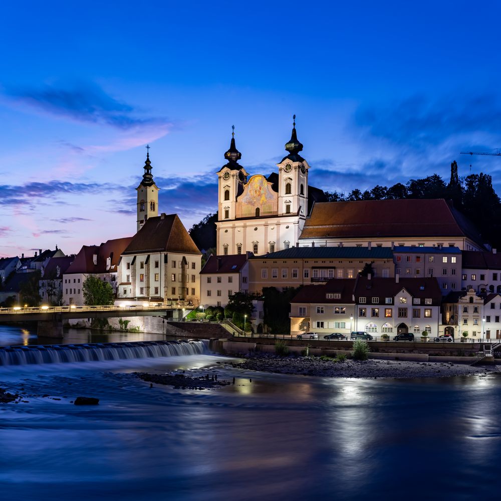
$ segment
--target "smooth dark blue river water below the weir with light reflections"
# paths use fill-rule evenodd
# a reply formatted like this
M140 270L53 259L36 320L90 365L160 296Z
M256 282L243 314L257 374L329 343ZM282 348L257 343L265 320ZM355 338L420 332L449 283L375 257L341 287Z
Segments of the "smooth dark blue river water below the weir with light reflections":
M27 395L0 404L0 499L499 498L499 375L329 379L217 364L228 360L0 367L0 387ZM181 369L235 384L150 388L132 374Z

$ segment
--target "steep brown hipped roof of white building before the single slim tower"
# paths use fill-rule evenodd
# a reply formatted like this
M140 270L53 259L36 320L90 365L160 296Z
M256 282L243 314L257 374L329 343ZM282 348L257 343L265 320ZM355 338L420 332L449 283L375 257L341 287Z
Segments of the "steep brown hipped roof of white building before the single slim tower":
M177 214L150 217L132 237L122 254L178 252L200 254Z

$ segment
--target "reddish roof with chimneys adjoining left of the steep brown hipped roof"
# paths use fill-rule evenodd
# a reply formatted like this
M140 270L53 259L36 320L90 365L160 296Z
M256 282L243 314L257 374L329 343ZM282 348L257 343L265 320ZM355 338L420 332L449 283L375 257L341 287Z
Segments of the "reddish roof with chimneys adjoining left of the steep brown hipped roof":
M65 275L73 273L113 273L117 271L120 255L131 242L132 236L114 238L101 245L83 245L75 256L73 263L67 268ZM94 255L97 255L97 264L94 264ZM107 260L110 258L110 267L107 269Z

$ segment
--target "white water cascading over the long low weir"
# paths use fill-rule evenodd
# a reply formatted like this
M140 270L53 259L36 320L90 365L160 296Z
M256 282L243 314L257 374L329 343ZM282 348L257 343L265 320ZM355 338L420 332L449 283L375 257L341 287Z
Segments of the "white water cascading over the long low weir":
M107 362L206 352L206 340L5 346L0 347L0 366Z

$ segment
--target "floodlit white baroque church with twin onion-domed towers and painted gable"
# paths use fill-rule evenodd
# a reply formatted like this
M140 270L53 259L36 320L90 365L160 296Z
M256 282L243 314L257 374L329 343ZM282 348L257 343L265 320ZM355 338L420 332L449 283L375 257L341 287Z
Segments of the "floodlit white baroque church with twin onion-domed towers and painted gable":
M263 255L296 245L315 201L324 202L324 192L308 185L310 165L300 155L303 145L296 132L294 116L292 135L285 149L288 154L277 164L278 173L268 177L248 177L238 160L234 131L227 163L217 172L218 221L217 254L253 252Z

